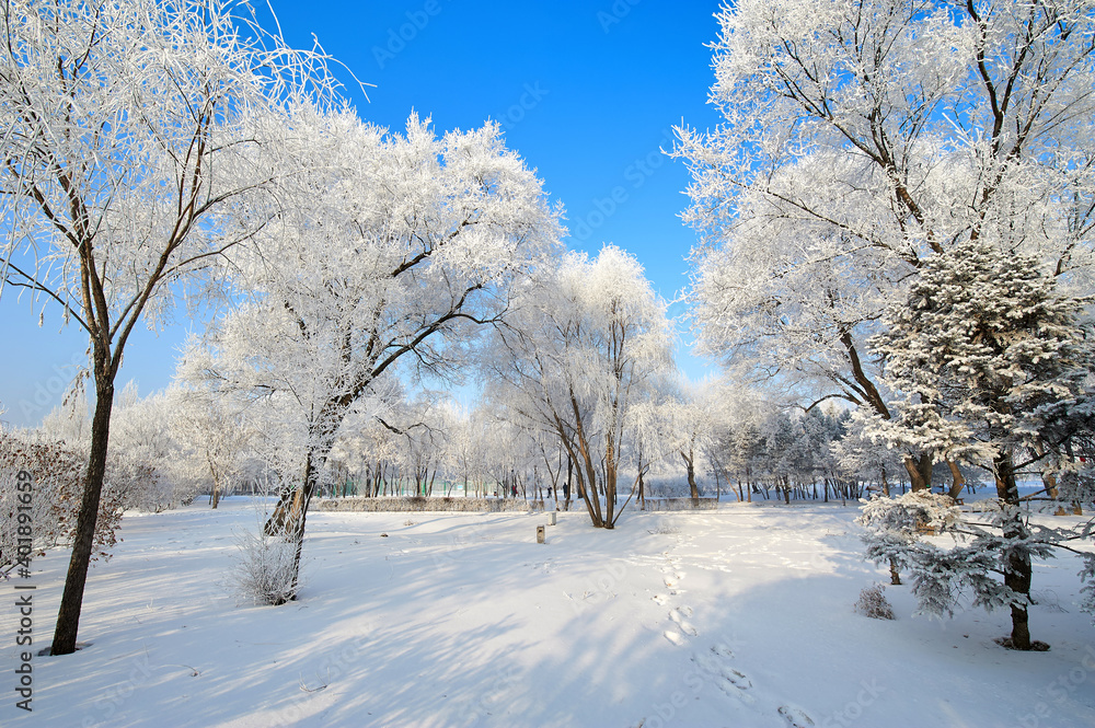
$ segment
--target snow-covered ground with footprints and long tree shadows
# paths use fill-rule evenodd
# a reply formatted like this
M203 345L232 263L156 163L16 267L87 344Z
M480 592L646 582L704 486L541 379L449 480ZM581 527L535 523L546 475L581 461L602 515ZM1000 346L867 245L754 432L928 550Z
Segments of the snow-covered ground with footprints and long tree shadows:
M1008 651L1006 613L913 619L907 587L886 591L897 621L854 613L886 577L860 556L856 513L629 508L606 532L577 511L540 545L542 513L313 512L307 586L279 608L226 586L233 533L256 523L246 499L128 515L90 575L92 645L35 657L34 712L5 689L0 725L1095 726L1075 559L1035 569L1033 636L1051 651ZM66 566L34 562L37 647Z

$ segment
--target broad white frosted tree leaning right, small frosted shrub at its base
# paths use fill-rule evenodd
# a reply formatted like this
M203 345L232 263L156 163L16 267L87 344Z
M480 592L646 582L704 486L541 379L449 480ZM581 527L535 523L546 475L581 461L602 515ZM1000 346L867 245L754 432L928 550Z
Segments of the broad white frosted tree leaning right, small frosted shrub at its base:
M347 416L383 400L396 370L453 378L477 332L506 314L515 280L553 254L561 229L540 180L499 128L403 135L350 111L298 114L295 178L279 220L238 250L246 299L187 355L197 377L291 409L300 475L267 529L303 539L309 502ZM383 388L380 388L383 390ZM288 432L287 432L288 434Z

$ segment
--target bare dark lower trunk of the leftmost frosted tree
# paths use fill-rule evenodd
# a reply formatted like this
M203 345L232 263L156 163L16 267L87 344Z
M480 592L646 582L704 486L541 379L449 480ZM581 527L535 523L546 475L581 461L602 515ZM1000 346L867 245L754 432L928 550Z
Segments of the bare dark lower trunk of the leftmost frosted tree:
M76 651L77 633L80 629L80 612L83 608L83 590L88 583L91 553L95 544L95 523L99 521L99 501L103 495L106 476L106 451L111 438L111 411L114 408L114 378L102 373L100 367L108 368L108 358L95 351L95 414L91 420L91 455L88 474L83 483L83 497L77 516L76 535L72 539L72 555L65 577L65 591L57 612L54 643L50 655L71 655ZM99 380L107 380L100 382Z

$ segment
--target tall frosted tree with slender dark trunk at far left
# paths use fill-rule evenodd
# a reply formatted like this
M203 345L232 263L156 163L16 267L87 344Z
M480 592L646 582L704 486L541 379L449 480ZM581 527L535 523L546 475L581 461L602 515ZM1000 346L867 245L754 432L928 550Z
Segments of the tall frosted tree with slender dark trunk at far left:
M87 486L53 654L76 650L114 380L138 322L269 219L279 107L331 88L323 55L264 35L245 3L10 0L0 15L0 285L90 338ZM254 31L247 34L241 27ZM312 83L314 82L314 83ZM229 236L217 216L250 210Z

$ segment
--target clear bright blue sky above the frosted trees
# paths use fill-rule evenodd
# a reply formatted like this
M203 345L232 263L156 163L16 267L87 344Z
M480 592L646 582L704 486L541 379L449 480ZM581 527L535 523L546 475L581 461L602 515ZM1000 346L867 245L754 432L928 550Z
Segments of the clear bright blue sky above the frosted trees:
M323 47L364 82L359 115L401 130L412 111L438 131L502 124L510 149L535 167L566 207L567 244L591 254L602 243L631 252L668 300L688 284L685 256L695 235L678 215L688 173L659 148L672 126L718 123L706 104L717 1L590 0L502 2L272 0L290 45ZM353 79L343 72L353 85ZM35 425L60 400L87 338L61 330L57 310L0 300L0 403L3 419ZM681 304L670 308L672 315ZM181 314L158 334L126 347L118 378L141 394L165 386L176 348L200 324ZM708 371L687 354L692 378Z

